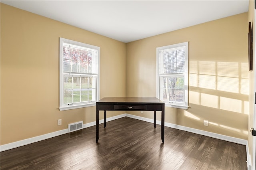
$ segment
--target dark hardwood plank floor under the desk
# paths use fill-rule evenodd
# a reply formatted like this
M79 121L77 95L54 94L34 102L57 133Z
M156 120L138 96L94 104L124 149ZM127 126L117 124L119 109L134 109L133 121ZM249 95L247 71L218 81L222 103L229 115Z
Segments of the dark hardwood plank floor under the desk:
M246 170L246 146L124 117L0 153L1 170Z

